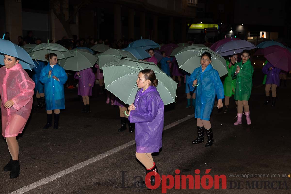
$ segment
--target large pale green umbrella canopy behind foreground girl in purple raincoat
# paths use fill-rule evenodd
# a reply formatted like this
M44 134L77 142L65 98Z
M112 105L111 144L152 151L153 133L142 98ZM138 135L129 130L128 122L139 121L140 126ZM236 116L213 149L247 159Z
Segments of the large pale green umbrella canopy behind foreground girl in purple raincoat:
M143 69L151 69L155 72L159 80L157 91L164 105L175 102L177 83L155 63L133 59L112 61L102 68L105 88L125 104L132 104L139 89L136 86L137 76Z

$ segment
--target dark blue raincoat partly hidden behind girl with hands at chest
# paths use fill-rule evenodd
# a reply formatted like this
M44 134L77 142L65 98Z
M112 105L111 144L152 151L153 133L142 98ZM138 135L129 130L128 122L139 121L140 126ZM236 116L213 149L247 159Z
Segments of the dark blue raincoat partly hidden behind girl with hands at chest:
M45 93L45 86L43 85L43 83L41 83L39 81L39 76L40 76L40 72L42 70L43 67L45 67L45 62L41 61L41 60L33 60L34 64L36 65L35 68L32 69L32 80L34 81L34 83L36 84L36 87L34 88L34 93L36 94L36 92L40 93Z

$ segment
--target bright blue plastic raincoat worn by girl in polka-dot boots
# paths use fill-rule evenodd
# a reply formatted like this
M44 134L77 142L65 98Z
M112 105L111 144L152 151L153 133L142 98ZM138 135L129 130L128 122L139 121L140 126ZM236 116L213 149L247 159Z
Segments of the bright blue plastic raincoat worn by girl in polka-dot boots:
M192 86L193 81L197 79L197 87ZM196 88L195 117L201 120L209 120L215 100L224 98L223 85L219 73L209 64L204 72L202 68L197 67L190 76L188 81L190 91Z

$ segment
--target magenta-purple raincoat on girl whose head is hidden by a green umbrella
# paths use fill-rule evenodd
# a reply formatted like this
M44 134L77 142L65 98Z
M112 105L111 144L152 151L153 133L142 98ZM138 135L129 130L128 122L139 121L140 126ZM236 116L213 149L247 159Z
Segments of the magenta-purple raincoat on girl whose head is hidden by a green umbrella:
M75 73L74 78L79 79L78 83L78 95L80 96L92 96L92 87L95 83L95 75L91 68L79 71L79 75ZM91 84L91 86L89 86Z

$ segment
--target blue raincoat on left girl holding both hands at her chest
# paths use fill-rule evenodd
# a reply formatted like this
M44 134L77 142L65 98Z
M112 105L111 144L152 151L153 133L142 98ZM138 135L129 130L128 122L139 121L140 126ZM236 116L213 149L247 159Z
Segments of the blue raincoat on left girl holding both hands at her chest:
M52 70L51 78L48 77L49 71ZM55 80L56 76L59 81ZM49 63L42 68L39 80L45 84L45 105L47 110L65 109L64 84L68 76L60 65L54 65L52 68Z

